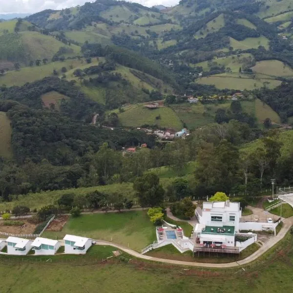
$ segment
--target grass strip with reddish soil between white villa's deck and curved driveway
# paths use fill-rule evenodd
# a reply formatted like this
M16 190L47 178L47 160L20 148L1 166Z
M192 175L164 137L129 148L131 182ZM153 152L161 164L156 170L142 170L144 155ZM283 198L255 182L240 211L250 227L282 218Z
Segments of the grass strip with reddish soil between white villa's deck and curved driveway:
M240 252L240 255L230 255L228 253L194 253L194 257L192 251L186 251L181 253L178 251L172 244L159 247L155 250L149 251L146 255L166 258L166 259L175 259L181 261L191 261L191 262L202 262L202 263L229 263L233 261L239 261L251 255L253 252L257 251L260 247L253 243L245 250Z

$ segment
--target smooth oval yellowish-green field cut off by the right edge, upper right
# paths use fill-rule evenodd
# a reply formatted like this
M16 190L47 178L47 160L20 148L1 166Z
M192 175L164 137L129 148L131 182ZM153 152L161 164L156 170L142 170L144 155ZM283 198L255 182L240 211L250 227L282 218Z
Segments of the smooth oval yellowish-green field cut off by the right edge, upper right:
M270 76L293 76L293 69L278 60L260 61L251 68L253 71Z

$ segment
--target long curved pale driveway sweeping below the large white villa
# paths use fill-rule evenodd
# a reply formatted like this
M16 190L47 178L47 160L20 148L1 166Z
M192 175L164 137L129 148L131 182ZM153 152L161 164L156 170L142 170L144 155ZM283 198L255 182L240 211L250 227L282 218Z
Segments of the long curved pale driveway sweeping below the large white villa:
M176 217L174 217L176 218ZM122 251L125 251L126 253L150 260L150 261L157 261L157 262L162 262L162 263L167 263L167 264L174 264L174 265L182 265L182 266L189 266L189 267L205 267L205 268L233 268L233 267L238 267L238 266L243 266L251 261L257 259L260 257L263 253L271 249L277 242L279 242L283 237L286 235L288 230L290 229L291 226L293 226L293 217L285 219L283 224L282 229L278 233L277 236L272 237L266 244L264 244L259 250L255 251L252 253L250 256L248 256L245 259L239 260L237 262L231 262L231 263L226 263L226 264L212 264L212 263L200 263L200 262L190 262L190 261L180 261L180 260L172 260L172 259L164 259L164 258L158 258L158 257L152 257L148 255L141 254L137 251L133 251L129 248L126 248L122 245L114 244L112 242L104 241L104 240L95 240L96 245L109 245L116 247Z

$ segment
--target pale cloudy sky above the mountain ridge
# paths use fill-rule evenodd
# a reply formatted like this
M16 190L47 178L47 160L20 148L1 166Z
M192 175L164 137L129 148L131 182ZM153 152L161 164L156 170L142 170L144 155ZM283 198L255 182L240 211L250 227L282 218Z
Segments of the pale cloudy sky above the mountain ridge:
M44 9L62 9L76 5L83 5L90 0L0 0L1 13L34 13ZM173 6L179 0L133 0L145 6L163 4Z

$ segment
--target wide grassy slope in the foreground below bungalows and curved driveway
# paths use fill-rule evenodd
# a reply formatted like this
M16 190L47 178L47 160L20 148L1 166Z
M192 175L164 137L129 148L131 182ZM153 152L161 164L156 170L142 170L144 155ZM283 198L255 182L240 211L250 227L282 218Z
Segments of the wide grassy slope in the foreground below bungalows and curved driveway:
M151 262L103 265L110 247L92 247L86 255L13 257L0 255L1 292L101 293L273 293L291 292L293 237L287 233L275 247L247 266L231 269L187 268ZM127 254L122 254L130 258ZM42 260L42 262L41 262ZM45 276L45 277L44 277Z

